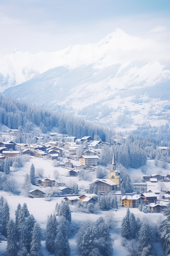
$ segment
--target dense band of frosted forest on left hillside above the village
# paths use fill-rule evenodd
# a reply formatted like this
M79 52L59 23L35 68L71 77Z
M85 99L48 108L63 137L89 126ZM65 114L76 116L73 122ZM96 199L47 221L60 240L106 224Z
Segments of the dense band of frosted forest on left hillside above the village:
M41 128L43 133L46 133L47 130L50 131L53 127L58 127L60 133L77 138L98 135L102 141L110 142L112 137L111 130L85 122L82 118L32 106L3 94L0 94L0 112L0 123L10 129L18 129L22 126L24 132L30 132L32 125L36 125Z

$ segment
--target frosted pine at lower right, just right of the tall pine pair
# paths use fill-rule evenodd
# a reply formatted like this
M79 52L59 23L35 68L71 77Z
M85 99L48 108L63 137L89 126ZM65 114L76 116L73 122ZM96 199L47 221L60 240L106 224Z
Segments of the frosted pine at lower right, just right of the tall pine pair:
M153 233L150 228L149 223L143 223L140 230L139 230L139 245L140 248L143 249L144 247L151 246L153 243Z

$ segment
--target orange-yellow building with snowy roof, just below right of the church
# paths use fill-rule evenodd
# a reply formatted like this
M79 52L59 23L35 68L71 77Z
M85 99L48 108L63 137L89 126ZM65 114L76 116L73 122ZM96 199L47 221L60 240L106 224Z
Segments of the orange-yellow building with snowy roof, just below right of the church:
M140 204L143 204L144 197L139 195L133 196L121 196L119 200L119 206L127 208L138 208Z

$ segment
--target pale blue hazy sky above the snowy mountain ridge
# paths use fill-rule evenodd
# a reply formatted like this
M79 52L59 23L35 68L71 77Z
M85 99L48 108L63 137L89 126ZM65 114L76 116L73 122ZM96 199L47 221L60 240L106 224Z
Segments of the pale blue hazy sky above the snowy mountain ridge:
M169 11L169 0L1 0L0 53L15 47L38 53L95 43L117 27L169 43Z

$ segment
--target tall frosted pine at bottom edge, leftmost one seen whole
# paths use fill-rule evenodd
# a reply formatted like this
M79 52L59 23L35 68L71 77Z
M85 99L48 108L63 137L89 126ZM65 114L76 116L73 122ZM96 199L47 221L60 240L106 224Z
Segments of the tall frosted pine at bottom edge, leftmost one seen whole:
M16 244L15 223L11 218L7 225L7 256L16 256Z

